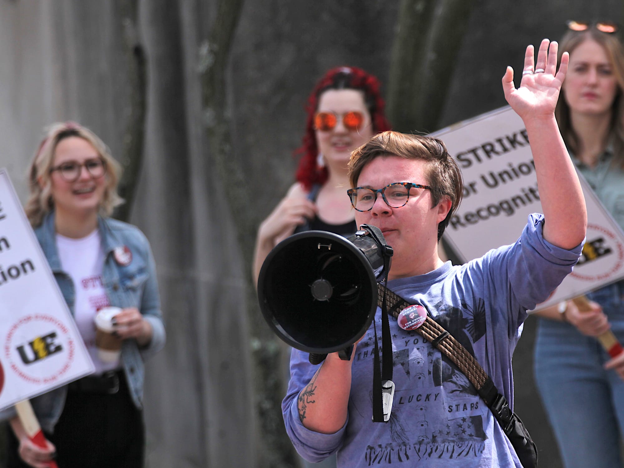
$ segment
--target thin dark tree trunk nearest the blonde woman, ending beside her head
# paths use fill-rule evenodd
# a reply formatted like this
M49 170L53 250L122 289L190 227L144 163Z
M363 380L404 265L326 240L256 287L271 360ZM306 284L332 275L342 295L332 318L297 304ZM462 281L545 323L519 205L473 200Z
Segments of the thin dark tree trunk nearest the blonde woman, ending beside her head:
M124 109L125 130L121 163L124 173L119 181L119 195L125 203L115 210L115 218L127 221L139 180L145 146L145 115L147 115L147 64L145 50L139 41L139 1L119 0L124 29L124 52L128 67L129 102Z

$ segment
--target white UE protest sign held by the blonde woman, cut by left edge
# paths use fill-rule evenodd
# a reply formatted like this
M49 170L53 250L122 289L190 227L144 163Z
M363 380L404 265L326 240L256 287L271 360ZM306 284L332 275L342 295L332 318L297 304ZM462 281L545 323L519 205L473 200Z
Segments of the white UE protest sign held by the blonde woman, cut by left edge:
M3 169L0 169L0 346L0 409L95 370Z

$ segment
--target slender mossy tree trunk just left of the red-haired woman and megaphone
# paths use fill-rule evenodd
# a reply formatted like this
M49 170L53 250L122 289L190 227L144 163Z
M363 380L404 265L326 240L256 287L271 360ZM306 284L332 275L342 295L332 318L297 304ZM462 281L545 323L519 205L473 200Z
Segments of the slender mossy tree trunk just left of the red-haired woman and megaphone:
M202 72L202 104L204 125L210 142L210 155L215 162L222 188L226 192L230 211L238 228L238 243L245 265L247 308L250 319L251 350L253 352L253 381L256 400L258 434L258 467L296 466L292 444L286 437L281 417L283 366L280 346L270 332L258 308L258 298L251 281L251 263L256 236L253 220L253 193L243 175L243 161L233 152L230 132L230 107L227 102L226 79L233 36L240 18L243 0L221 0L210 31L210 37L200 48ZM254 419L250 417L250 423Z

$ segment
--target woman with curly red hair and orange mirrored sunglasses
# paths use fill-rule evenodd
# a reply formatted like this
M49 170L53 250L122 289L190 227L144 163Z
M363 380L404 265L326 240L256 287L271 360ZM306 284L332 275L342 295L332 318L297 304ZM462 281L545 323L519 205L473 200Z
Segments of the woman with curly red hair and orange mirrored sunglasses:
M296 182L258 229L253 261L255 281L266 256L295 232L356 231L346 195L351 151L390 129L376 77L356 67L328 71L308 99L308 118Z

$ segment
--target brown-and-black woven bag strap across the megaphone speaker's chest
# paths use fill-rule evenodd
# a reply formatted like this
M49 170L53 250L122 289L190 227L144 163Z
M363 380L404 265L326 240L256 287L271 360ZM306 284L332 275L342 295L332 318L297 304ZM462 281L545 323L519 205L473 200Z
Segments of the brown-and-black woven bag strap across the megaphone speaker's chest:
M392 314L394 318L398 318L399 313L411 305L401 296L397 296L386 286L378 283L378 305L380 307L380 298L384 293L386 294L388 313ZM520 418L511 411L507 399L499 393L494 381L485 373L477 359L429 315L415 331L430 341L432 346L439 349L444 356L451 359L474 385L479 396L492 411L494 419L499 422L503 432L509 437L522 465L525 468L536 467L537 448L529 436L529 431L524 427Z

